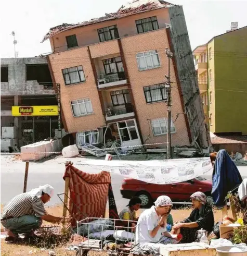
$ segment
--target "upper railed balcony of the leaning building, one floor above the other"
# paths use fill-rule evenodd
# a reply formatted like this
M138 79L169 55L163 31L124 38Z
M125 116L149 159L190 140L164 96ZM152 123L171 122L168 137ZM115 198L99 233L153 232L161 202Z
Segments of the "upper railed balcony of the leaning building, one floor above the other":
M100 79L98 79L98 89L108 88L112 86L121 86L122 84L126 84L127 79L125 78L125 73L121 72L121 74L113 74L113 75L102 75Z

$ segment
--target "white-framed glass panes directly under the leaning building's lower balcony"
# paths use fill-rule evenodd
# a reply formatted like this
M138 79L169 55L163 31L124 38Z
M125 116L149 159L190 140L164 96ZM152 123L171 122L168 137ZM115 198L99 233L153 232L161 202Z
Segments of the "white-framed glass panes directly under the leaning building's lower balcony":
M117 124L121 141L130 141L138 139L135 120L126 120L118 122Z

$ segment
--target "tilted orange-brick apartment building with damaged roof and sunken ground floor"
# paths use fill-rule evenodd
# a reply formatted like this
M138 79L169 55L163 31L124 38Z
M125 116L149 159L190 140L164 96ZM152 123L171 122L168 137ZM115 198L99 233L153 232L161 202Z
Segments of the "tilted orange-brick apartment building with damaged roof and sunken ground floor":
M135 1L105 17L51 28L47 39L63 126L77 144L166 147L166 47L174 53L172 146L210 144L183 7Z

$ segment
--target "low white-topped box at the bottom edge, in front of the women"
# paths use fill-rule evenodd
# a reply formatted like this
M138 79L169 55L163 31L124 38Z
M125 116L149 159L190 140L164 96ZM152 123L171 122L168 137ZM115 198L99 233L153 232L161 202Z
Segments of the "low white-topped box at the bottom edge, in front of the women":
M202 242L180 243L178 245L165 245L160 248L163 256L215 256L216 249Z

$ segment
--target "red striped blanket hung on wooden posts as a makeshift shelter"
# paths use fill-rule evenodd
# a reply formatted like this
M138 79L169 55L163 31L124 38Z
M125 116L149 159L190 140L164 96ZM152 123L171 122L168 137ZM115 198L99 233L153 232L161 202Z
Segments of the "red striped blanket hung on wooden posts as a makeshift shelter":
M119 219L109 172L89 174L75 168L71 162L67 162L63 175L63 179L66 180L66 178L69 179L69 186L64 194L64 201L67 201L65 199L69 196L69 192L69 210L71 214L76 215L77 220L85 217L105 217L107 200L109 201L109 218ZM75 226L75 220L71 224Z

